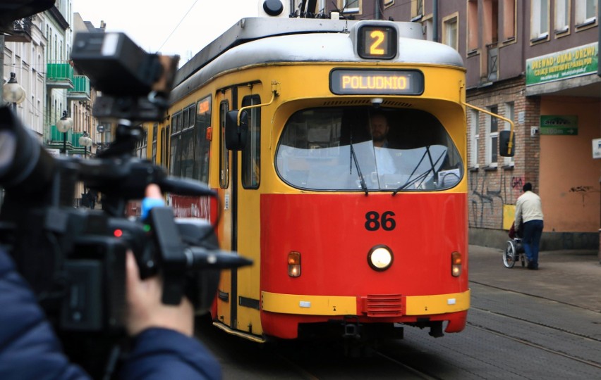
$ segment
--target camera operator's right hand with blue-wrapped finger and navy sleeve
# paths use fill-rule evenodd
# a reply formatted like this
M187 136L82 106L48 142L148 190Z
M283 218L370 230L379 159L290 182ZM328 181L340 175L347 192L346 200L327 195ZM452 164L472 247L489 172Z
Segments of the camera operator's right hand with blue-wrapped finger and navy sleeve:
M163 205L159 186L146 188L142 215ZM161 277L141 280L132 252L126 258L126 327L133 336L133 351L121 368L121 379L221 379L219 363L193 337L194 308L187 298L179 305L164 305Z

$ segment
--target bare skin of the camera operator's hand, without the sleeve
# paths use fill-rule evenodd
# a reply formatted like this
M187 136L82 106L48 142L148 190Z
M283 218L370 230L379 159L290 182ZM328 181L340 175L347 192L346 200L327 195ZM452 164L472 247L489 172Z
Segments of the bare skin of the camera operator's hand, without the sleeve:
M161 190L156 184L146 189L147 199L161 200ZM128 252L127 261L127 301L128 316L126 326L130 336L150 327L173 329L187 336L194 334L194 308L187 298L179 305L164 305L161 302L162 281L160 277L141 280L138 265L132 252Z

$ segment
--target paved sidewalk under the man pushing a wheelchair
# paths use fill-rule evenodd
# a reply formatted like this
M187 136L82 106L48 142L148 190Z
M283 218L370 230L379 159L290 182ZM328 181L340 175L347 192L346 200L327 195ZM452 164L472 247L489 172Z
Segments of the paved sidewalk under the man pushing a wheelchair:
M543 251L539 253L539 270L527 270L519 262L506 268L504 247L469 249L470 281L601 312L597 251Z

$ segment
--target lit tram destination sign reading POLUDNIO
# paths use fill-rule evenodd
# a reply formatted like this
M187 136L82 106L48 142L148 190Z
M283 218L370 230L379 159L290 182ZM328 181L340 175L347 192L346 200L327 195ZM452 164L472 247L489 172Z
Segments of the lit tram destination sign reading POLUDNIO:
M337 95L421 95L424 75L418 70L334 69L329 88Z

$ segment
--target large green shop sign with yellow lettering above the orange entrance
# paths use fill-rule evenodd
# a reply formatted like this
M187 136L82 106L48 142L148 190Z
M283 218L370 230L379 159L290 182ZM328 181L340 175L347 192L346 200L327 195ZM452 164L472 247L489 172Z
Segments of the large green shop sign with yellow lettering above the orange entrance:
M599 43L578 46L526 60L526 86L596 74Z

